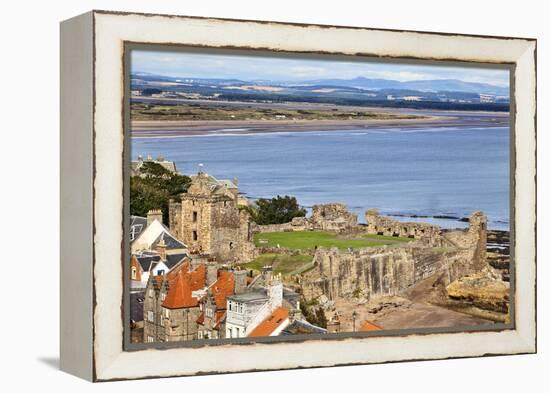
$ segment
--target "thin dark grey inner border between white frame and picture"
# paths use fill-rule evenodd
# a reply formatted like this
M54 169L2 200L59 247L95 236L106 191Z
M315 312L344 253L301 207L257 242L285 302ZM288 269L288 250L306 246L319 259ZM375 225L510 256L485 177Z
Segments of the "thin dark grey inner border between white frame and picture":
M124 144L123 144L123 157L124 162L122 165L122 173L124 176L124 183L123 183L123 191L124 191L124 212L123 212L123 227L124 227L124 234L128 233L128 217L129 217L129 165L130 165L130 141L129 141L129 131L128 127L130 124L130 111L129 111L129 97L128 93L130 91L130 61L129 58L131 56L131 51L133 50L158 50L158 51L167 51L170 52L171 50L177 50L182 52L187 51L198 51L199 53L211 53L212 51L219 52L219 53L226 53L231 55L242 55L242 56L273 56L273 57L279 57L279 56L288 56L289 58L302 58L304 56L308 56L310 58L318 59L324 56L331 57L334 61L357 61L357 62L392 62L392 63L398 63L398 64L424 64L428 63L431 64L434 62L434 60L425 60L425 59L401 59L401 58L373 58L371 56L367 55L344 55L341 53L332 53L332 54L318 54L316 52L293 52L293 51L285 51L285 50L279 50L279 51L269 51L266 54L265 49L255 49L255 48L248 48L243 49L241 47L209 47L209 46L201 46L201 45L195 45L195 46L188 46L185 44L162 44L162 43L144 43L144 42L130 42L130 41L123 41L123 63L124 63L124 96L123 96L123 133L124 133ZM495 69L505 69L509 72L510 76L510 91L514 92L513 83L514 83L514 75L515 75L515 63L475 63L475 62L464 62L464 61L450 61L450 60L435 60L440 65L445 66L463 66L463 67L489 67L489 68L495 68ZM514 171L515 171L515 149L514 146L514 140L515 140L515 127L513 127L514 124L514 108L515 108L515 97L512 96L512 100L510 102L511 109L510 109L510 188L511 191L514 191L514 188L512 187L513 180L514 180ZM511 223L513 224L513 217L514 217L514 193L510 193L510 217L511 217ZM513 239L515 234L513 231L513 225L511 225L510 228L510 236ZM250 345L255 343L300 343L304 341L313 341L313 340L326 340L326 341L338 341L343 340L347 338L368 338L368 337L407 337L407 336L415 336L415 335L426 335L426 334L454 334L454 333L472 333L472 332L500 332L503 330L514 330L515 329L515 318L514 318L514 308L515 308L515 302L511 302L510 304L510 315L511 315L511 322L503 322L503 323L494 323L492 325L485 324L485 325L477 325L477 326L462 326L462 327L442 327L442 328L409 328L409 329L394 329L394 330L384 330L383 333L380 332L342 332L338 334L333 335L323 335L323 334L303 334L303 335L294 335L294 336L285 336L285 337L257 337L257 338L241 338L241 339L218 339L218 340L193 340L191 342L163 342L163 343L156 343L156 344L135 344L130 342L130 331L128 329L130 316L129 316L129 298L130 298L130 292L129 292L129 261L130 261L130 255L129 255L129 249L130 249L130 243L128 241L127 236L124 236L123 238L123 260L122 260L122 270L123 270L123 277L124 277L124 290L123 290L123 350L124 351L142 351L147 349L174 349L174 348L200 348L200 347L206 347L206 346L223 346L228 344L239 344L239 345ZM510 273L513 277L513 273L515 271L514 269L514 260L513 260L513 247L510 248L511 252L511 268ZM513 285L513 279L510 281L510 290L511 293L515 293L515 288Z

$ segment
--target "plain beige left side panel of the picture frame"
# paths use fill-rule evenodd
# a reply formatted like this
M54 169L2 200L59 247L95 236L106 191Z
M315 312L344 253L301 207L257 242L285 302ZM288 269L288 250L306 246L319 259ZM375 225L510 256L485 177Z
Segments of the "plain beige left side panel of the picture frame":
M60 369L94 380L94 12L60 23ZM75 100L74 97L82 99ZM84 343L83 343L84 341Z

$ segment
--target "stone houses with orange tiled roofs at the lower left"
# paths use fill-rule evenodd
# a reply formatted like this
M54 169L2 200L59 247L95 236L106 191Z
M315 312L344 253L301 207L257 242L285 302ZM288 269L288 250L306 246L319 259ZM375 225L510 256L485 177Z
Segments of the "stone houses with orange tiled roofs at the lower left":
M146 343L225 338L227 298L247 291L247 271L187 258L150 275L144 295Z

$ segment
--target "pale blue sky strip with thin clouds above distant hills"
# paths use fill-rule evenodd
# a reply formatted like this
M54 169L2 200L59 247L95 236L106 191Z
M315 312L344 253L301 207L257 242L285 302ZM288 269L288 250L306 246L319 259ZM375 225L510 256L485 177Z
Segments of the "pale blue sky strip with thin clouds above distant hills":
M335 60L233 56L204 53L134 50L132 72L190 78L235 78L250 80L303 81L355 77L398 81L459 79L508 87L508 70L369 63Z

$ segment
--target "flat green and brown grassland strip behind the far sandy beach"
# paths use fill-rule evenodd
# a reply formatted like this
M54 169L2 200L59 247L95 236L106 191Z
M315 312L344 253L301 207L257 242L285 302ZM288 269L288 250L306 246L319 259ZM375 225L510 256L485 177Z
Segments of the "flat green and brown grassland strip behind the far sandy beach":
M372 110L333 110L259 108L207 104L132 103L132 120L377 120L417 119L423 116L404 115Z

